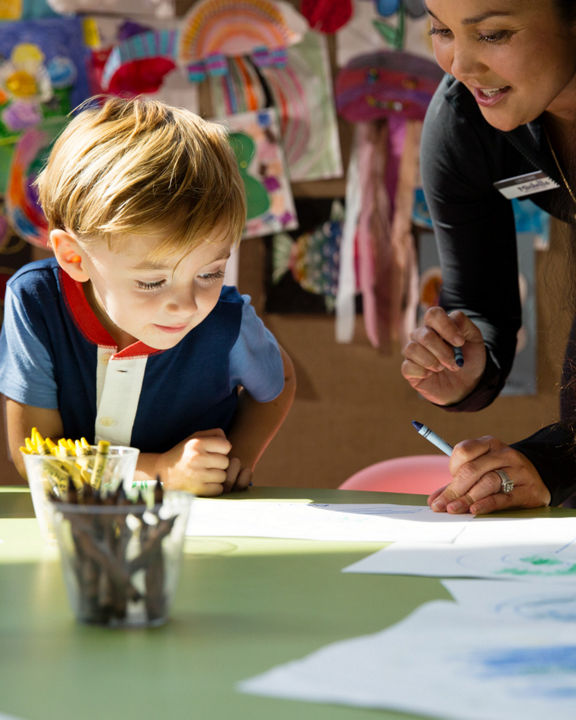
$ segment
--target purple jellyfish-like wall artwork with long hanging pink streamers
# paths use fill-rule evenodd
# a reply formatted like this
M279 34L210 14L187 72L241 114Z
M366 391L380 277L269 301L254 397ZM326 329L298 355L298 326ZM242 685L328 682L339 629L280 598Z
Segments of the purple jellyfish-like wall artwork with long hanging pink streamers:
M356 56L336 78L338 112L356 123L357 284L368 339L382 352L415 323L412 205L422 120L441 77L430 60L390 50ZM350 341L351 328L339 339Z

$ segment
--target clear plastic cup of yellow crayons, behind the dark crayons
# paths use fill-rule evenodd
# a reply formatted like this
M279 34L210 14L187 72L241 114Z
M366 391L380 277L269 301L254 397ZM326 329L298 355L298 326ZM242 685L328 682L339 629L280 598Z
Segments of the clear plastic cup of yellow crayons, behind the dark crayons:
M91 451L91 455L70 458L22 453L34 514L44 541L56 541L48 512L48 495L53 493L57 497L65 498L69 479L78 478L82 472L85 473L84 477L91 477L95 464L99 462L96 446L91 447ZM102 472L96 467L101 486L115 489L122 483L128 491L128 488L134 485L138 453L138 448L111 445L105 461L102 462Z

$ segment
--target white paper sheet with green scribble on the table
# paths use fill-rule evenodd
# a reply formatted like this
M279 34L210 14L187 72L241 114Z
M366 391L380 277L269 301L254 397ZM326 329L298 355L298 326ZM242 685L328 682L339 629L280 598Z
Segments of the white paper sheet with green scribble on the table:
M576 582L576 518L470 523L447 545L397 542L344 572Z

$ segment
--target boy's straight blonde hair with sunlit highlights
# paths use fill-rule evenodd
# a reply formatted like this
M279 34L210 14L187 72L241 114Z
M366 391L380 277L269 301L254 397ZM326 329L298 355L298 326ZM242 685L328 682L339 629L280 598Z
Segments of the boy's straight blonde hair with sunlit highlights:
M222 126L141 97L88 103L36 179L51 230L110 242L160 227L169 251L185 251L214 233L231 243L240 239L244 185Z

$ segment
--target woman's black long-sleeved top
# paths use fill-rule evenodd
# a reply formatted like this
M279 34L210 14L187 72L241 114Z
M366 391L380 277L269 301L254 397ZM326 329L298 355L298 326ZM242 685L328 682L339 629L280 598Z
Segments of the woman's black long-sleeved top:
M529 198L554 217L573 222L566 191L538 119L512 132L484 120L471 93L445 76L428 108L421 146L422 181L442 265L441 305L459 309L480 328L487 349L485 372L475 390L451 411L480 410L500 393L512 367L521 325L516 230L512 203L499 180L543 170L559 189ZM573 327L570 362L576 365ZM567 374L567 373L565 373ZM537 467L552 504L576 490L576 405L564 390L562 422L515 443Z

